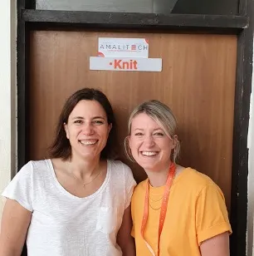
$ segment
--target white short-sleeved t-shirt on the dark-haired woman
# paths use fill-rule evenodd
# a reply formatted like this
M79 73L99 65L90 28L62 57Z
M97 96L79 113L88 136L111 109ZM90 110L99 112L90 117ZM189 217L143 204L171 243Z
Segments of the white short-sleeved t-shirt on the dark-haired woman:
M2 195L32 211L28 256L120 256L116 235L134 185L127 165L108 160L100 189L79 198L60 185L51 160L40 160L24 165Z

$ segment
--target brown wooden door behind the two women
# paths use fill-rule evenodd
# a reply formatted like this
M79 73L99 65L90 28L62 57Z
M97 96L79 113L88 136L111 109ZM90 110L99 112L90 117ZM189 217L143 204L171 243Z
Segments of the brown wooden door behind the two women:
M90 71L89 57L96 56L98 37L148 38L149 57L161 57L163 71ZM177 116L180 164L209 175L230 206L237 37L37 31L31 33L30 51L30 159L46 158L66 98L83 87L95 87L105 92L115 110L120 159L132 167L136 180L144 180L144 171L126 160L123 141L134 106L158 99Z

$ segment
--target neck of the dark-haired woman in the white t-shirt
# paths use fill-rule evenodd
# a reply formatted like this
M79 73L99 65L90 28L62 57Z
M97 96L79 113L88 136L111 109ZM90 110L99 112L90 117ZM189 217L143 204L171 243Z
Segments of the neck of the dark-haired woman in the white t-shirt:
M93 160L72 157L70 161L70 169L72 173L81 180L90 178L91 175L97 173L100 169L100 155Z

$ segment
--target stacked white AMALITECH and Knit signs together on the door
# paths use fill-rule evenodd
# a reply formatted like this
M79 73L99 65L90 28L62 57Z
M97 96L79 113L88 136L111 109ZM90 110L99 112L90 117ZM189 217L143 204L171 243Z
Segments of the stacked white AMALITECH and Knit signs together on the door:
M100 37L97 57L90 57L90 70L162 71L162 59L148 56L145 38Z

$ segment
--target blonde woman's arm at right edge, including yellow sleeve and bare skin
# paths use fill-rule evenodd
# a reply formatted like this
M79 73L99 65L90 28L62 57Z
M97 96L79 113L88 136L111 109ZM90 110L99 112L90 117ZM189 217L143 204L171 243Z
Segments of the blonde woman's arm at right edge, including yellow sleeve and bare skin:
M229 256L229 234L225 199L217 185L209 184L198 194L196 231L202 256Z

